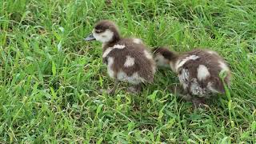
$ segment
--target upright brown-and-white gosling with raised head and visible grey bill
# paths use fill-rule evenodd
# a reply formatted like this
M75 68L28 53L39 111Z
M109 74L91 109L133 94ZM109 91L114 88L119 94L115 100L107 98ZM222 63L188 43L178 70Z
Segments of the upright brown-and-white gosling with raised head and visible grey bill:
M107 90L108 94L114 94L119 82L132 84L128 88L132 93L139 92L142 83L153 82L155 64L152 54L140 39L122 38L114 22L98 22L85 40L102 42L103 62L110 78L114 78L114 87Z

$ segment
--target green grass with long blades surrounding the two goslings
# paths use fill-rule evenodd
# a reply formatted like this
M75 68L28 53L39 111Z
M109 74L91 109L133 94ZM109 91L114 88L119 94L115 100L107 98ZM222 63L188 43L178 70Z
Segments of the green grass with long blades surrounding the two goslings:
M0 142L256 142L256 2L134 0L0 1ZM114 82L94 22L117 22L147 46L216 50L232 70L226 95L193 110L158 70L142 94L99 94Z

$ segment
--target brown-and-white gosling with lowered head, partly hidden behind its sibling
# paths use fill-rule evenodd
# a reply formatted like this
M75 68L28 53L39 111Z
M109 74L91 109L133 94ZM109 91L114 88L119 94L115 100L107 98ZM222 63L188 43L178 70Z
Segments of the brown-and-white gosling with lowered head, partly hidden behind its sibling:
M214 94L223 94L224 83L219 74L226 71L224 82L230 86L230 69L225 60L212 50L195 49L184 54L177 54L167 48L154 48L154 61L157 66L170 66L178 74L185 100L194 106L204 103L205 98Z

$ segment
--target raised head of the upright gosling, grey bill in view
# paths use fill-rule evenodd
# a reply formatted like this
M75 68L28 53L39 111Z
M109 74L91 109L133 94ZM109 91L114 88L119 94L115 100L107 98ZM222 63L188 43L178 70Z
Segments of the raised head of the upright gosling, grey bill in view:
M115 42L120 39L118 32L118 26L110 20L102 20L98 22L92 31L92 34L88 35L85 40L93 41L97 40L102 43Z

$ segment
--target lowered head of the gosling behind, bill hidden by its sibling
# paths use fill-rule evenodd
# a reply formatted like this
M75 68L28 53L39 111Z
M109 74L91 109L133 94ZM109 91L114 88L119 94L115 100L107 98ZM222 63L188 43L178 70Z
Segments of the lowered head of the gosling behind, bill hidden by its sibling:
M154 62L157 66L170 67L174 70L174 63L178 58L178 54L168 50L166 47L156 47L153 49Z

